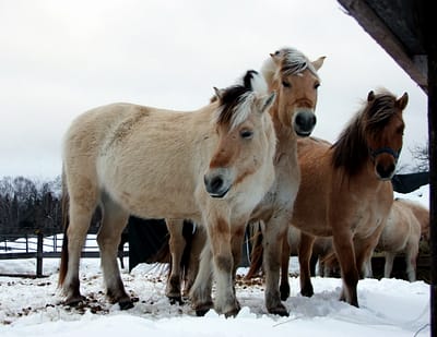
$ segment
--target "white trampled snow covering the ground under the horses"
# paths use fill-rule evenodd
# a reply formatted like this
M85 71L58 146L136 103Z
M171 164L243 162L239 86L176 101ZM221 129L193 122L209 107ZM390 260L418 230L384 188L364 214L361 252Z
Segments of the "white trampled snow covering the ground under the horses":
M409 194L427 206L428 186ZM405 195L399 195L405 197ZM33 274L35 258L0 261L0 274ZM128 265L126 258L125 265ZM59 260L44 260L45 278L0 277L0 336L428 336L429 285L400 279L363 279L359 308L339 301L341 279L314 277L315 296L299 294L298 277L290 277L291 297L284 302L288 317L267 313L262 280L238 278L243 306L236 317L210 311L197 317L188 301L172 305L165 297L163 265L140 264L121 273L126 290L138 301L120 311L104 294L97 258L81 262L81 290L90 301L83 308L61 304L57 288ZM292 273L298 270L296 258ZM244 276L247 269L239 268Z

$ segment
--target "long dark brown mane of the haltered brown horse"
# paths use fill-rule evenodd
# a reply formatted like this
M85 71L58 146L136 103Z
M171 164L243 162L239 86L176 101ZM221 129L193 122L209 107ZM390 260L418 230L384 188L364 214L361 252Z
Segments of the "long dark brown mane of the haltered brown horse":
M376 136L382 131L395 112L395 100L394 95L382 91L374 100L366 101L331 146L334 168L343 168L349 176L358 173L369 157L366 135Z

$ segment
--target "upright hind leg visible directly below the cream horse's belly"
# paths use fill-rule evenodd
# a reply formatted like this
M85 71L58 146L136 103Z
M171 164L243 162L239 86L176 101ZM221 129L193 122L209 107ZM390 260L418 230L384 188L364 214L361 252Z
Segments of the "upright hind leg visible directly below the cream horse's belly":
M170 303L182 303L180 281L181 270L180 262L182 260L184 250L186 248L186 240L182 234L184 220L180 219L165 219L169 232L168 245L170 250L170 273L167 278L165 294L170 300Z

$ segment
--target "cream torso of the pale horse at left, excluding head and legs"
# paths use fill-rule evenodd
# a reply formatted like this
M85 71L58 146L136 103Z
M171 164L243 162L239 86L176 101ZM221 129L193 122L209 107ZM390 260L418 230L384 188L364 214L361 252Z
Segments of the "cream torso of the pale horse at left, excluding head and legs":
M131 104L84 112L64 141L69 192L86 183L138 216L198 219L193 194L206 156L197 149L203 140L202 152L210 151L210 120L208 109L177 112Z

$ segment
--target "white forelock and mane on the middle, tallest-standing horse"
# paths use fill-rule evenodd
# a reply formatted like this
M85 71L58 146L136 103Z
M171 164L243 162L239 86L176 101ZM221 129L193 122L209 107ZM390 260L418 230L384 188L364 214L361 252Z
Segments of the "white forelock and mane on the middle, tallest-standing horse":
M282 48L272 56L282 57L282 62L279 68L274 62L273 57L270 57L264 61L261 68L261 73L267 83L272 83L274 77L279 74L296 75L306 69L308 69L316 77L319 77L311 61L302 51L295 48Z

